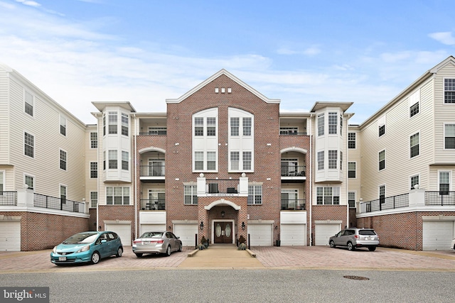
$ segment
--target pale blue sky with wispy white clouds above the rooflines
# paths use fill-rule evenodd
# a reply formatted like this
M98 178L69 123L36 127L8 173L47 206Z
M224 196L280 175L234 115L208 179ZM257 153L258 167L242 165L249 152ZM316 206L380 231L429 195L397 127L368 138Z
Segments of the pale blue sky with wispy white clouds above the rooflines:
M87 124L92 101L165 112L219 70L280 111L363 123L455 55L451 1L0 0L0 62Z

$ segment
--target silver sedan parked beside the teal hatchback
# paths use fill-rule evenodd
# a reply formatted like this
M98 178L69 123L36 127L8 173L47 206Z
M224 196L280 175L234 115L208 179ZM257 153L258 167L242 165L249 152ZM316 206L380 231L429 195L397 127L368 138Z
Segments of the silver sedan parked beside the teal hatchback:
M133 241L133 253L140 258L144 253L165 253L182 251L182 241L170 231L147 231Z

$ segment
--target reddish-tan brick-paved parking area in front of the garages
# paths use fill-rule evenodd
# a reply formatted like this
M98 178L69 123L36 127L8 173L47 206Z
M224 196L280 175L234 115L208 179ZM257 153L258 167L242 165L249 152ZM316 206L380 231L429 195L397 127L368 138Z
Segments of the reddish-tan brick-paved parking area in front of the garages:
M216 250L219 251L216 252ZM232 251L230 258L229 250ZM321 270L414 270L455 272L455 252L422 252L392 248L349 251L328 246L252 247L256 258L245 252L240 255L235 246L216 249L209 246L188 257L193 248L183 248L171 256L144 255L137 258L131 247L125 247L122 258L110 257L97 265L56 266L50 263L50 250L33 252L1 252L0 274L16 272L79 272L103 270L189 270L217 269L321 269ZM245 258L240 261L238 258ZM191 260L187 260L191 259ZM250 264L250 265L249 265Z

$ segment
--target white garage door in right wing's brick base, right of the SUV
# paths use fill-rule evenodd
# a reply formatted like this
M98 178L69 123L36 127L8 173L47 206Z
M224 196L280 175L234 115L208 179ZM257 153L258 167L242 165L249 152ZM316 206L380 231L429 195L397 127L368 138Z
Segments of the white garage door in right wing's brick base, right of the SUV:
M424 221L422 250L450 250L454 221Z

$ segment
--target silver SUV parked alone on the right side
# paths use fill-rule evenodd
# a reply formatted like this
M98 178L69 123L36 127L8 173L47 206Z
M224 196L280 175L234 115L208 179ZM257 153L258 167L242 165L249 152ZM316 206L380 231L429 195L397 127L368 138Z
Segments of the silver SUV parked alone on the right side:
M375 251L379 245L379 236L373 228L346 228L328 240L331 248L346 246L348 250L355 250L359 247L368 247L368 250Z

